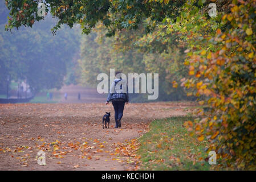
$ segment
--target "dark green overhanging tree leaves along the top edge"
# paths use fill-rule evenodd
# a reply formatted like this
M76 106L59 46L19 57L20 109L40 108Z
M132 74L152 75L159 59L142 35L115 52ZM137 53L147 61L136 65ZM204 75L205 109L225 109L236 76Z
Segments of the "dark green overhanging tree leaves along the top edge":
M38 16L37 1L32 0L6 0L6 6L11 10L6 30L14 27L32 26L35 21L42 20ZM175 18L179 14L178 7L184 0L169 1L137 1L137 0L95 0L95 1L57 1L46 0L46 12L58 18L52 31L55 33L62 24L73 27L79 23L85 34L89 34L97 24L103 22L107 27L107 35L115 35L116 31L136 29L145 17L161 22L166 16ZM148 28L149 30L150 28Z

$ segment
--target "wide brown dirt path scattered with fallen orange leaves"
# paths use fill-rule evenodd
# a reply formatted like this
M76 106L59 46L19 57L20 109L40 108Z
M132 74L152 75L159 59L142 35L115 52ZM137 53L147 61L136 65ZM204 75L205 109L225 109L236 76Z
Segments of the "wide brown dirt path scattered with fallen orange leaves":
M192 105L128 104L121 129L113 127L112 105L0 105L0 170L132 169L135 164L129 156L117 150L145 133L153 119L184 115L184 108ZM103 130L101 118L105 111L111 111L111 125ZM46 153L46 166L37 163L39 150Z

